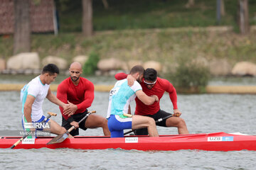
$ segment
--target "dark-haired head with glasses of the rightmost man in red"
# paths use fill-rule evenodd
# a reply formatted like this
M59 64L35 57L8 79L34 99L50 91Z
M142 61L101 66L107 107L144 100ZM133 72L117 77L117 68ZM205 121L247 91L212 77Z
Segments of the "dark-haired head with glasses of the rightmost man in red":
M155 69L149 68L144 72L144 84L151 89L156 84L157 72Z

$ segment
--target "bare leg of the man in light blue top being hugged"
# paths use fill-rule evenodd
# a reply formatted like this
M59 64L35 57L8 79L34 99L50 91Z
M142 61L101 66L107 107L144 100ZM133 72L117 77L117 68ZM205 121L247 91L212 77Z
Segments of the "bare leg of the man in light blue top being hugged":
M158 137L159 134L156 130L156 123L153 118L149 118L143 115L132 116L132 129L147 128L149 136Z

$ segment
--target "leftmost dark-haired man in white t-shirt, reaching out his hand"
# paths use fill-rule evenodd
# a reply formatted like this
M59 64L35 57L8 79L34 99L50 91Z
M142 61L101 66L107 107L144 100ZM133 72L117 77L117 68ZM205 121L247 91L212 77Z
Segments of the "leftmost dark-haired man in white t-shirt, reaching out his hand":
M50 91L50 83L55 81L57 75L59 74L59 69L55 64L47 64L43 67L41 75L32 79L28 84L26 84L23 89L21 89L21 101L22 101L22 125L23 129L26 131L31 130L33 133L29 135L28 138L36 137L35 127L28 129L29 123L35 125L36 123L41 123L44 118L43 115L43 101L48 98L49 101L55 103L56 105L67 109L68 104L60 101L52 92ZM66 132L65 128L61 127L54 120L46 120L48 123L48 130L56 135L64 134ZM30 124L30 125L31 125ZM37 129L36 130L43 130ZM69 135L69 137L72 137Z

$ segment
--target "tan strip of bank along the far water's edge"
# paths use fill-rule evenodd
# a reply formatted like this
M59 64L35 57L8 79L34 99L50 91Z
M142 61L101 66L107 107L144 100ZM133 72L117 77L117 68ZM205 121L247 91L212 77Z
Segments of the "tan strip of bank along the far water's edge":
M0 91L20 91L25 84L0 84ZM58 84L50 84L57 91ZM95 85L95 91L108 92L114 85ZM206 94L256 94L256 86L206 86Z

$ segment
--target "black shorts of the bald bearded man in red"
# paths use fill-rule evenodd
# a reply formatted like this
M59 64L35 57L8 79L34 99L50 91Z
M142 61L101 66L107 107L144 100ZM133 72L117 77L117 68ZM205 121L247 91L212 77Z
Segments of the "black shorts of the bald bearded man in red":
M82 118L85 117L85 115L87 115L87 110L83 113L78 113L78 114L75 114L75 115L71 115L72 118L76 121L76 122L79 122ZM86 118L87 119L87 118ZM79 124L79 128L81 128L82 130L87 130L87 128L85 128L85 120L82 120L82 122ZM63 121L62 121L62 126L66 129L66 130L69 130L72 125L70 125L70 123L65 120L65 118L63 118ZM70 135L73 135L73 136L76 136L76 135L79 135L79 128L77 129L74 129L70 132Z

